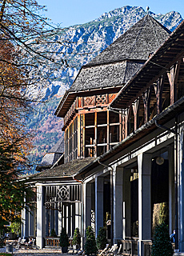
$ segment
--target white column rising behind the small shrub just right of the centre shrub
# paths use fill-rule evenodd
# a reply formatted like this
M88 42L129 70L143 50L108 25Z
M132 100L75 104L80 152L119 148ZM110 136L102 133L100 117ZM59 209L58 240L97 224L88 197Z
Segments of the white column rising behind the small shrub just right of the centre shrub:
M103 178L95 178L95 237L103 226Z

